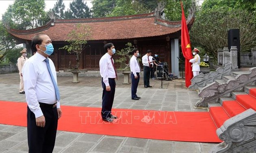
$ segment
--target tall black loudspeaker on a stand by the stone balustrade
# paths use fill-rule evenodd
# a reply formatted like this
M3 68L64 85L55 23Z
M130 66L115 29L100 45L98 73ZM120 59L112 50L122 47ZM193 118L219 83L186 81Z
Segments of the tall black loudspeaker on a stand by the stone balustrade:
M228 49L229 50L231 46L237 47L237 66L238 68L240 68L240 30L239 29L228 30Z

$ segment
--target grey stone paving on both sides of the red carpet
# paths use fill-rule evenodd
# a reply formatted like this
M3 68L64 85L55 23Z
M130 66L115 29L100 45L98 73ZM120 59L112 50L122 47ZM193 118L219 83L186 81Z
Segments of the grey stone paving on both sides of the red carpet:
M71 83L72 76L61 77L60 74L58 76L62 105L101 107L100 77L80 76L80 83ZM161 88L161 80L151 79L150 85L153 87L144 88L141 77L137 91L141 100L137 101L131 100L131 85L124 85L123 81L122 74L119 74L113 108L207 111L193 108L199 97L197 91L189 91L185 87L184 79L163 81L163 88ZM18 73L0 74L0 100L25 102L25 95L18 92L19 82ZM204 132L207 134L206 131ZM54 153L207 153L214 145L215 143L151 140L58 131ZM27 152L26 127L0 124L0 153Z

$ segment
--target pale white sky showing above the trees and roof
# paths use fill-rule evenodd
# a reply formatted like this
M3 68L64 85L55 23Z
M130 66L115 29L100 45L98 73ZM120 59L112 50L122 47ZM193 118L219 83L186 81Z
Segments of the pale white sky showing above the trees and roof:
M69 8L69 3L72 2L73 0L63 0L65 4L65 10ZM85 0L87 2L87 6L89 8L92 7L91 1L92 0ZM13 4L14 0L0 0L1 5L0 5L0 19L2 19L2 14L4 14L7 11L7 8L10 4ZM50 10L51 8L54 7L54 4L57 2L57 0L45 0L46 3L46 8L45 11Z

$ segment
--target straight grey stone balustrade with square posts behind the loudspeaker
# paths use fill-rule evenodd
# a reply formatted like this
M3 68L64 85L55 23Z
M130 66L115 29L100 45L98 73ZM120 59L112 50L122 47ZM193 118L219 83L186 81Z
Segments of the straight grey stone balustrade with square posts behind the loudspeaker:
M232 46L230 51L227 47L218 49L218 65L232 64L232 69L238 68L237 66L237 48ZM241 66L256 66L256 48L252 48L251 52L240 53Z

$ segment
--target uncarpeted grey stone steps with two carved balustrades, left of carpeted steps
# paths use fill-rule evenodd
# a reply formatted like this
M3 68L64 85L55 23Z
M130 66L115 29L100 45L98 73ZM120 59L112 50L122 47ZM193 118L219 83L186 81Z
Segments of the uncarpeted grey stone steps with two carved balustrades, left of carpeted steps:
M198 77L196 76L197 78L192 79L189 89L197 89L201 98L195 107L207 107L210 103L220 103L220 98L230 98L232 92L243 92L244 86L256 85L256 67L248 71L231 72L231 67L225 66L212 73L200 73Z

